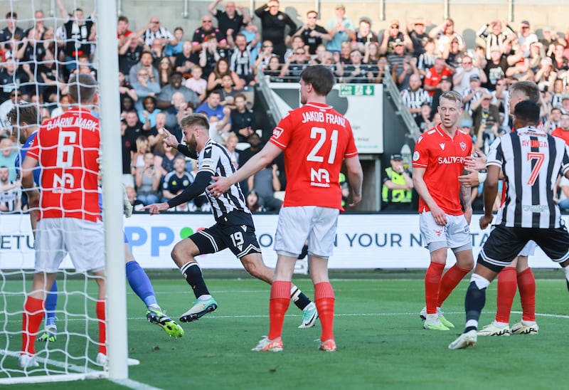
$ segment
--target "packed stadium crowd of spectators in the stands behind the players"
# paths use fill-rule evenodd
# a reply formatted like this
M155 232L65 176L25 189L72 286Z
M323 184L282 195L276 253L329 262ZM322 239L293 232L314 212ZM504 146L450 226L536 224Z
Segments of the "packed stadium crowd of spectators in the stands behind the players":
M477 44L467 46L452 19L436 26L394 19L375 33L366 16L357 23L346 18L343 4L322 25L317 11L308 11L297 25L277 0L252 15L233 1L220 2L208 4L201 25L190 32L164 26L156 16L131 31L128 17L119 16L122 174L135 205L171 199L193 181L196 167L161 142L164 128L181 140L181 117L203 112L211 121L210 137L227 146L239 167L262 148L252 112L258 78L297 82L313 64L328 65L339 83L382 83L389 74L421 131L439 122L439 96L456 90L464 97L460 127L483 152L511 129L509 85L531 80L541 90L544 127L569 139L569 29L560 34L546 27L538 36L527 20L518 26L493 20L479 28ZM95 15L66 9L62 0L56 4L58 26L49 26L52 19L39 10L27 30L18 26L14 11L0 26L0 211L26 207L25 199L21 205L14 201L20 196L13 165L18 147L6 113L25 100L38 105L43 122L68 110L71 75L97 78ZM286 187L283 167L277 160L242 183L250 209L278 211L277 197ZM559 187L560 204L569 204L565 184ZM209 211L202 200L176 211Z

